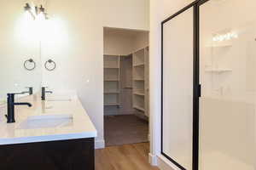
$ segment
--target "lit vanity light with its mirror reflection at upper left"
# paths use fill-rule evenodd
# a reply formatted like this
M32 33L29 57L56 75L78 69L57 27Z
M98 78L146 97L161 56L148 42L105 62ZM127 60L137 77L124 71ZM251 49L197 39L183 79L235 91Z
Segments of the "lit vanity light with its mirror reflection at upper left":
M48 20L48 14L45 12L45 8L43 5L34 6L33 8L29 5L29 3L26 3L26 6L24 7L25 11L27 11L29 14L32 15L33 20L36 20L38 16L42 15L44 16L44 20Z

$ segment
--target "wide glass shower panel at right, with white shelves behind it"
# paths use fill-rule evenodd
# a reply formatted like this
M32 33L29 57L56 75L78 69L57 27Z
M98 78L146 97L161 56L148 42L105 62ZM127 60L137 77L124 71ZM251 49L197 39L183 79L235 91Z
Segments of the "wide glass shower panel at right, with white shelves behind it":
M200 8L200 169L255 170L256 1Z

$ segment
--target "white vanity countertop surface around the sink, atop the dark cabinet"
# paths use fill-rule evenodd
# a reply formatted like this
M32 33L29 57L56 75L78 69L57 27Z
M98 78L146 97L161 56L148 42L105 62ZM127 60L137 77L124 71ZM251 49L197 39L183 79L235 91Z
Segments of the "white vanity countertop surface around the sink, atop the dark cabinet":
M17 101L29 102L32 107L15 105L15 123L7 123L4 116L6 113L2 111L0 114L0 145L96 137L96 128L76 96L70 100L52 98L49 101L41 101L39 97L33 95L17 99ZM52 115L72 115L73 122L64 127L20 128L20 124L28 117Z

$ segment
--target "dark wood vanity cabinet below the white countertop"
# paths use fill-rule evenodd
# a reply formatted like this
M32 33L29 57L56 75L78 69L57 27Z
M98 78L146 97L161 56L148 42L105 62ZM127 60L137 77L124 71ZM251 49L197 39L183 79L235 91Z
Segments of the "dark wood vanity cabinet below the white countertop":
M0 170L94 170L94 139L0 145Z

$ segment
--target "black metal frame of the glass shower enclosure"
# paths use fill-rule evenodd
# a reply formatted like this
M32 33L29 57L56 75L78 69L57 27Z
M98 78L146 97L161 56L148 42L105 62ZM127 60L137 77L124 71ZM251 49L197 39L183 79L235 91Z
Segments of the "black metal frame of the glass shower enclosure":
M163 83L164 83L164 26L166 22L174 19L179 14L183 14L189 8L194 8L193 20L194 20L194 42L193 42L193 141L192 141L192 170L199 169L199 123L200 123L200 113L199 113L199 99L201 97L201 84L200 84L200 6L204 3L207 3L210 0L196 0L193 3L190 3L188 6L177 11L176 14L173 14L166 20L161 22L161 154L165 156L166 159L171 161L174 165L179 167L182 170L186 170L181 164L172 159L172 157L167 156L163 150Z

